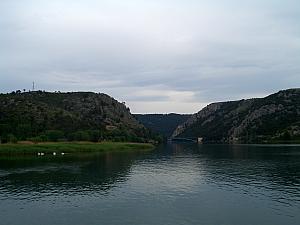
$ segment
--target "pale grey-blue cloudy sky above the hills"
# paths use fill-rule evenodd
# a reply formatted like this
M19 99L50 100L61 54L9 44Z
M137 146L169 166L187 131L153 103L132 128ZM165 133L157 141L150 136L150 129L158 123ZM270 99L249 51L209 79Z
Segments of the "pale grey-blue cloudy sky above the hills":
M192 113L300 87L299 0L0 0L0 15L0 92Z

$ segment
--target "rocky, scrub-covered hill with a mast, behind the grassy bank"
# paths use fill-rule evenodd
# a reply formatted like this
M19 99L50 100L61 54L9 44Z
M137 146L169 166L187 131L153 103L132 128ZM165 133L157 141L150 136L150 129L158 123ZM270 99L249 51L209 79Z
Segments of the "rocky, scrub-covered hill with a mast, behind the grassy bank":
M0 140L146 141L150 131L129 108L92 92L0 94Z

